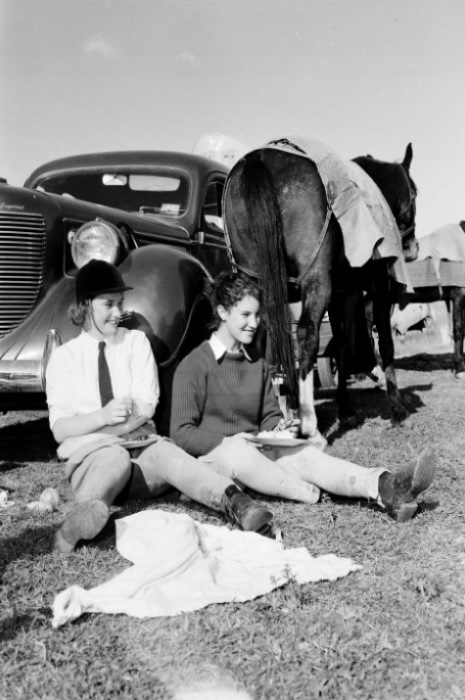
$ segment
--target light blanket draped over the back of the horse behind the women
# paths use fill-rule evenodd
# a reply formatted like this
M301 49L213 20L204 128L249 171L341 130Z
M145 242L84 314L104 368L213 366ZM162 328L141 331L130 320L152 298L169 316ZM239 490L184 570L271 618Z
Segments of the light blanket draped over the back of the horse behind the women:
M345 255L352 267L361 267L373 257L392 258L393 277L413 291L396 220L381 190L360 166L343 161L316 139L291 136L273 140L264 148L288 151L315 163L328 206L341 227Z

